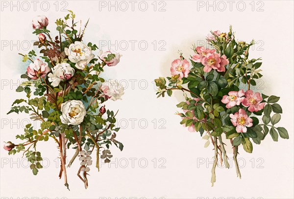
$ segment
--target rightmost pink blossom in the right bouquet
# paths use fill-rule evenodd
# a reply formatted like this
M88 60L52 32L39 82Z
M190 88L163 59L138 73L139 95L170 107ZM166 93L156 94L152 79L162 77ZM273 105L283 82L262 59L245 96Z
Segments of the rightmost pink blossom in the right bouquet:
M254 93L252 90L248 90L245 92L245 99L242 101L243 106L248 107L248 111L259 111L262 110L266 103L261 101L263 100L260 93Z

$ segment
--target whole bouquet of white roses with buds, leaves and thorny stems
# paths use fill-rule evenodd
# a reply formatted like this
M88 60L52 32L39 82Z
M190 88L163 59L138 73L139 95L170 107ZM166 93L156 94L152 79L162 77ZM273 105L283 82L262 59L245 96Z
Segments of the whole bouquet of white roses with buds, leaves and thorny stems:
M82 25L80 21L75 22L75 14L69 12L63 19L56 20L56 36L47 29L47 17L37 16L32 21L33 34L39 38L34 45L40 52L19 53L27 69L21 75L26 80L16 91L24 92L25 98L15 100L8 114L24 112L41 125L27 124L25 132L16 136L20 143L5 142L4 149L9 154L22 153L36 175L43 160L37 144L50 139L58 147L59 178L64 178L65 186L69 188L67 171L75 160L80 164L77 175L87 188L92 156L96 156L99 171L100 158L110 162L111 145L123 150L123 144L116 140L118 112L109 110L103 103L121 100L124 91L117 81L100 76L105 66L116 66L121 55L101 50L94 55L97 45L83 41L89 20ZM74 155L66 165L71 148ZM75 176L76 171L73 174Z

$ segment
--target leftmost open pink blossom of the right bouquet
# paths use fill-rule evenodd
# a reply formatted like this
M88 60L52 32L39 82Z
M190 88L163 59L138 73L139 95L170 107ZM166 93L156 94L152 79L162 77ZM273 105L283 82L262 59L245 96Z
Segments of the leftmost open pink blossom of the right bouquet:
M190 73L189 67L190 67L190 64L186 59L184 60L175 59L172 62L171 73L172 75L180 75L179 79L181 79L183 77L188 76L188 74Z

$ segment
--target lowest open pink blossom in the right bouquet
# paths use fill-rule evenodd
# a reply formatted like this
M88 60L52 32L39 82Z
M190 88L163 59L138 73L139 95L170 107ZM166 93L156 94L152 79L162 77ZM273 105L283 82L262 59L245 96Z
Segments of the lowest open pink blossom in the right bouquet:
M250 127L253 125L253 120L251 118L248 118L245 110L242 108L239 109L239 112L236 112L234 115L230 114L231 122L234 126L236 126L236 131L238 133L245 133L247 132L247 127Z

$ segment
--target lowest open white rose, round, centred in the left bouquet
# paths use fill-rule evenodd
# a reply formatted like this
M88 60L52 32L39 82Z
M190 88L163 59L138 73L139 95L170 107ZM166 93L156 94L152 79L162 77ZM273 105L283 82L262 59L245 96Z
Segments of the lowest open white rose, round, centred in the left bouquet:
M69 100L61 104L60 120L62 124L81 124L86 115L86 109L82 101Z

